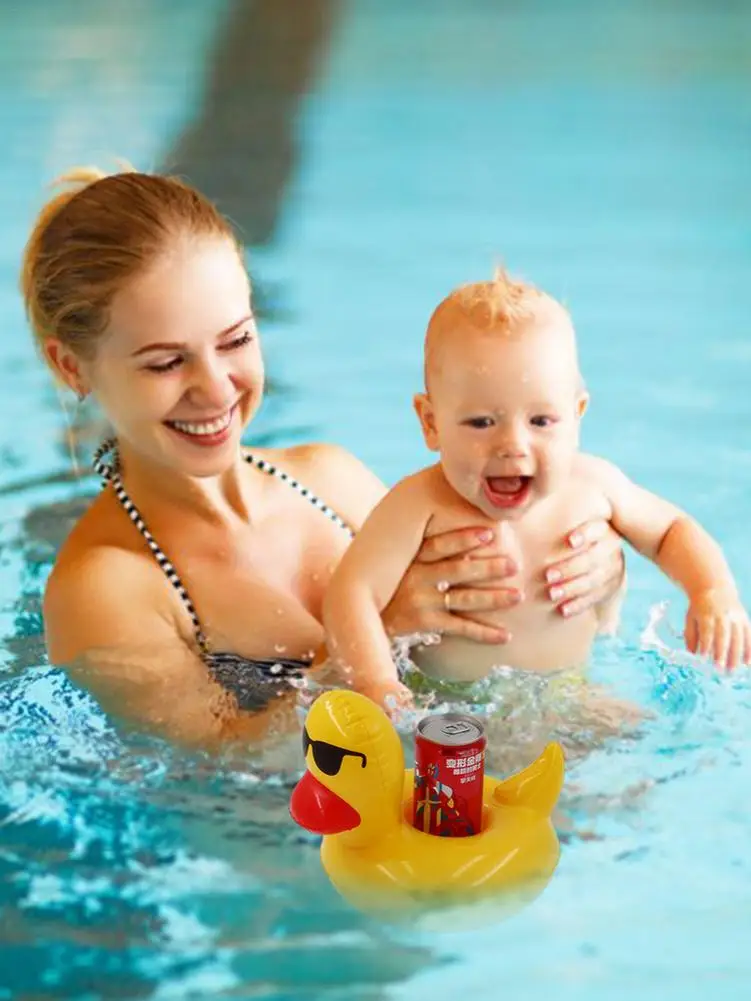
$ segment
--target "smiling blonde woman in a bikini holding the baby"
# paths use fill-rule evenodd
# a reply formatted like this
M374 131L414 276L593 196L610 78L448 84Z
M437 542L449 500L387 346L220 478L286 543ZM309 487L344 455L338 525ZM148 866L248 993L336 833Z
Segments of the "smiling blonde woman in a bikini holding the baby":
M114 430L107 482L62 547L44 619L50 659L105 710L208 745L264 733L322 640L329 576L384 485L350 454L245 452L263 360L242 251L178 180L73 171L27 244L22 286L50 368ZM623 578L607 526L583 526L557 569L569 613ZM385 613L392 635L502 640L484 589L514 572L468 529L426 545ZM446 590L446 585L450 589ZM553 599L552 599L553 600Z

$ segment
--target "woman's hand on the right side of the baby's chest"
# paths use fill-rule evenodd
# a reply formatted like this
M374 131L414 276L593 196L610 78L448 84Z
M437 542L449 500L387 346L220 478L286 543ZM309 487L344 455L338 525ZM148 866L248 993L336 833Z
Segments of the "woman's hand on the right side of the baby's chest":
M626 581L621 537L603 519L585 522L566 537L570 556L546 570L550 600L563 616L617 599Z

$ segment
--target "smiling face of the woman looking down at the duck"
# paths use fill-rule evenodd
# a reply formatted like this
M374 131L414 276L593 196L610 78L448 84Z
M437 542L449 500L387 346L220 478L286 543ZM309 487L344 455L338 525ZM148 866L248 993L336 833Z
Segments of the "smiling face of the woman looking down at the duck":
M263 394L250 285L231 241L182 240L119 292L81 370L136 452L192 476L226 469Z

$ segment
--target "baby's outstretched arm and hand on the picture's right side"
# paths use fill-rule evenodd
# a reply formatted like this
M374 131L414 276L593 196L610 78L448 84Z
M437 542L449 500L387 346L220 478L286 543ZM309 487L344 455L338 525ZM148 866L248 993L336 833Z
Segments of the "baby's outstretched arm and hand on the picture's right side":
M686 594L688 649L711 656L720 667L747 664L751 626L715 540L694 519L638 486L610 462L591 456L587 462L612 506L616 531Z

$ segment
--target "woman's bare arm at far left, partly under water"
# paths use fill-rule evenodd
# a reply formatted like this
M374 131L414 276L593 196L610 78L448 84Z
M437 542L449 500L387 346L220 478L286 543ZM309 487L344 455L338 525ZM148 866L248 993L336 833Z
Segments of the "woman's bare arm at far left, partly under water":
M282 703L237 709L193 650L163 581L135 554L102 549L55 568L44 622L51 663L115 719L206 749L292 725Z

